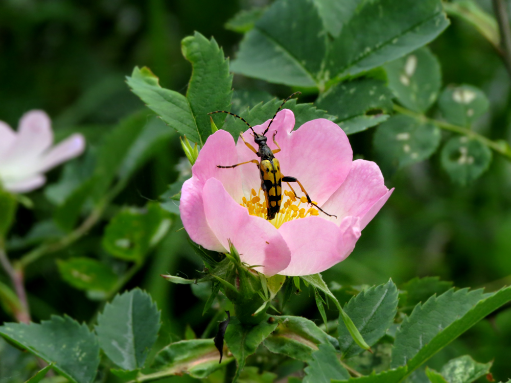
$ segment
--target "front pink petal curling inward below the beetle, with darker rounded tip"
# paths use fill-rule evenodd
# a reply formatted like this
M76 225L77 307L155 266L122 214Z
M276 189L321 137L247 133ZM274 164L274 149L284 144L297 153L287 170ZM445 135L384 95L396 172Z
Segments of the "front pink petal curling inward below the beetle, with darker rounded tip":
M214 178L206 181L202 197L207 221L226 249L230 240L241 260L248 265L262 265L257 270L267 277L288 266L289 248L279 231L268 221L250 216L245 207L227 194L220 181Z

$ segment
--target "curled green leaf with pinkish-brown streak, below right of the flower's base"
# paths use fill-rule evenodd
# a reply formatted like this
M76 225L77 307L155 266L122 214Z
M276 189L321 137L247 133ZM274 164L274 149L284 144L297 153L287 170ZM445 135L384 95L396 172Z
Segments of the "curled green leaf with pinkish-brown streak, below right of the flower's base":
M331 343L332 338L309 319L293 316L276 318L278 326L264 341L264 346L271 352L309 362L320 344Z

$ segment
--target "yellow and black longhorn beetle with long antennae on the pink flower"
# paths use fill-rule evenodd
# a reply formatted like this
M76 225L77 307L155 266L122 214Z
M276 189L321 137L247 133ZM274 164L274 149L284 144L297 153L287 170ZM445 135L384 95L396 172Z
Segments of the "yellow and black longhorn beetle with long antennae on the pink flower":
M275 215L281 209L281 203L282 203L282 182L286 182L288 184L288 186L291 188L291 191L293 192L293 194L295 196L296 196L296 192L293 190L292 186L289 183L290 182L296 182L298 184L298 186L300 186L301 191L305 194L305 197L307 198L307 202L309 204L315 206L317 209L319 209L323 213L327 214L327 216L337 218L337 216L334 216L332 214L329 214L329 213L323 211L318 205L316 205L314 202L312 202L311 198L309 197L309 194L307 194L307 192L305 191L304 186L300 183L300 181L298 181L294 177L289 177L289 176L283 176L282 175L282 173L281 173L281 165L280 165L280 163L278 162L278 160L274 156L275 153L278 153L278 152L281 151L280 146L278 146L278 143L275 141L275 134L277 134L276 131L275 131L275 133L273 133L272 139L273 139L273 143L277 146L278 149L271 150L270 147L266 143L268 137L266 137L265 134L268 132L268 129L270 129L270 125L273 122L273 119L276 117L278 111L280 111L282 109L284 104L288 100L290 100L295 94L301 94L301 92L294 92L286 100L284 100L284 102L281 104L280 107L278 107L277 111L275 112L275 114L271 118L271 121L268 124L268 127L266 128L266 130L264 131L263 134L255 133L254 130L252 129L252 127L250 126L250 124L247 123L245 121L245 119L243 119L242 117L240 117L237 114L234 114L234 113L231 113L231 112L227 112L225 110L217 110L215 112L207 113L207 114L227 113L227 114L230 114L230 115L235 116L237 118L240 118L241 121L243 121L245 124L247 124L248 127L250 128L250 130L253 132L254 142L257 143L257 145L259 146L259 150L255 150L255 148L252 145L250 145L250 143L245 141L245 138L243 138L242 132L240 132L240 137L243 140L243 142L245 142L245 145L252 152L254 152L259 158L261 158L261 162L259 162L257 159L253 159L253 160L250 160L250 161L237 163L235 165L229 165L229 166L217 165L217 167L221 167L221 168L226 169L228 167L236 167L236 166L243 165L245 163L250 163L250 162L253 162L253 163L255 163L258 166L259 172L260 172L260 176L261 176L261 189L263 190L264 197L266 199L266 208L267 208L267 218L266 219L268 221L272 220L273 218L275 218Z

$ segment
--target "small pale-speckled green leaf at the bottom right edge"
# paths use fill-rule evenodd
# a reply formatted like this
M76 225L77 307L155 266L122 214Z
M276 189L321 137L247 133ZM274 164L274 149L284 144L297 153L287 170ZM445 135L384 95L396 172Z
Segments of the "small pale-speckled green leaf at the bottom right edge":
M440 373L449 383L472 383L474 380L489 374L492 362L478 363L470 355L451 359Z

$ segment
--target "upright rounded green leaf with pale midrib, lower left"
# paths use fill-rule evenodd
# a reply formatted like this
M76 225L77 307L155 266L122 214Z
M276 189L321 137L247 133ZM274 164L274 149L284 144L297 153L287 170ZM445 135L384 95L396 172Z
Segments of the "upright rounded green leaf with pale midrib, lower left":
M144 367L158 337L160 312L140 289L117 295L98 316L95 326L101 349L125 370Z

